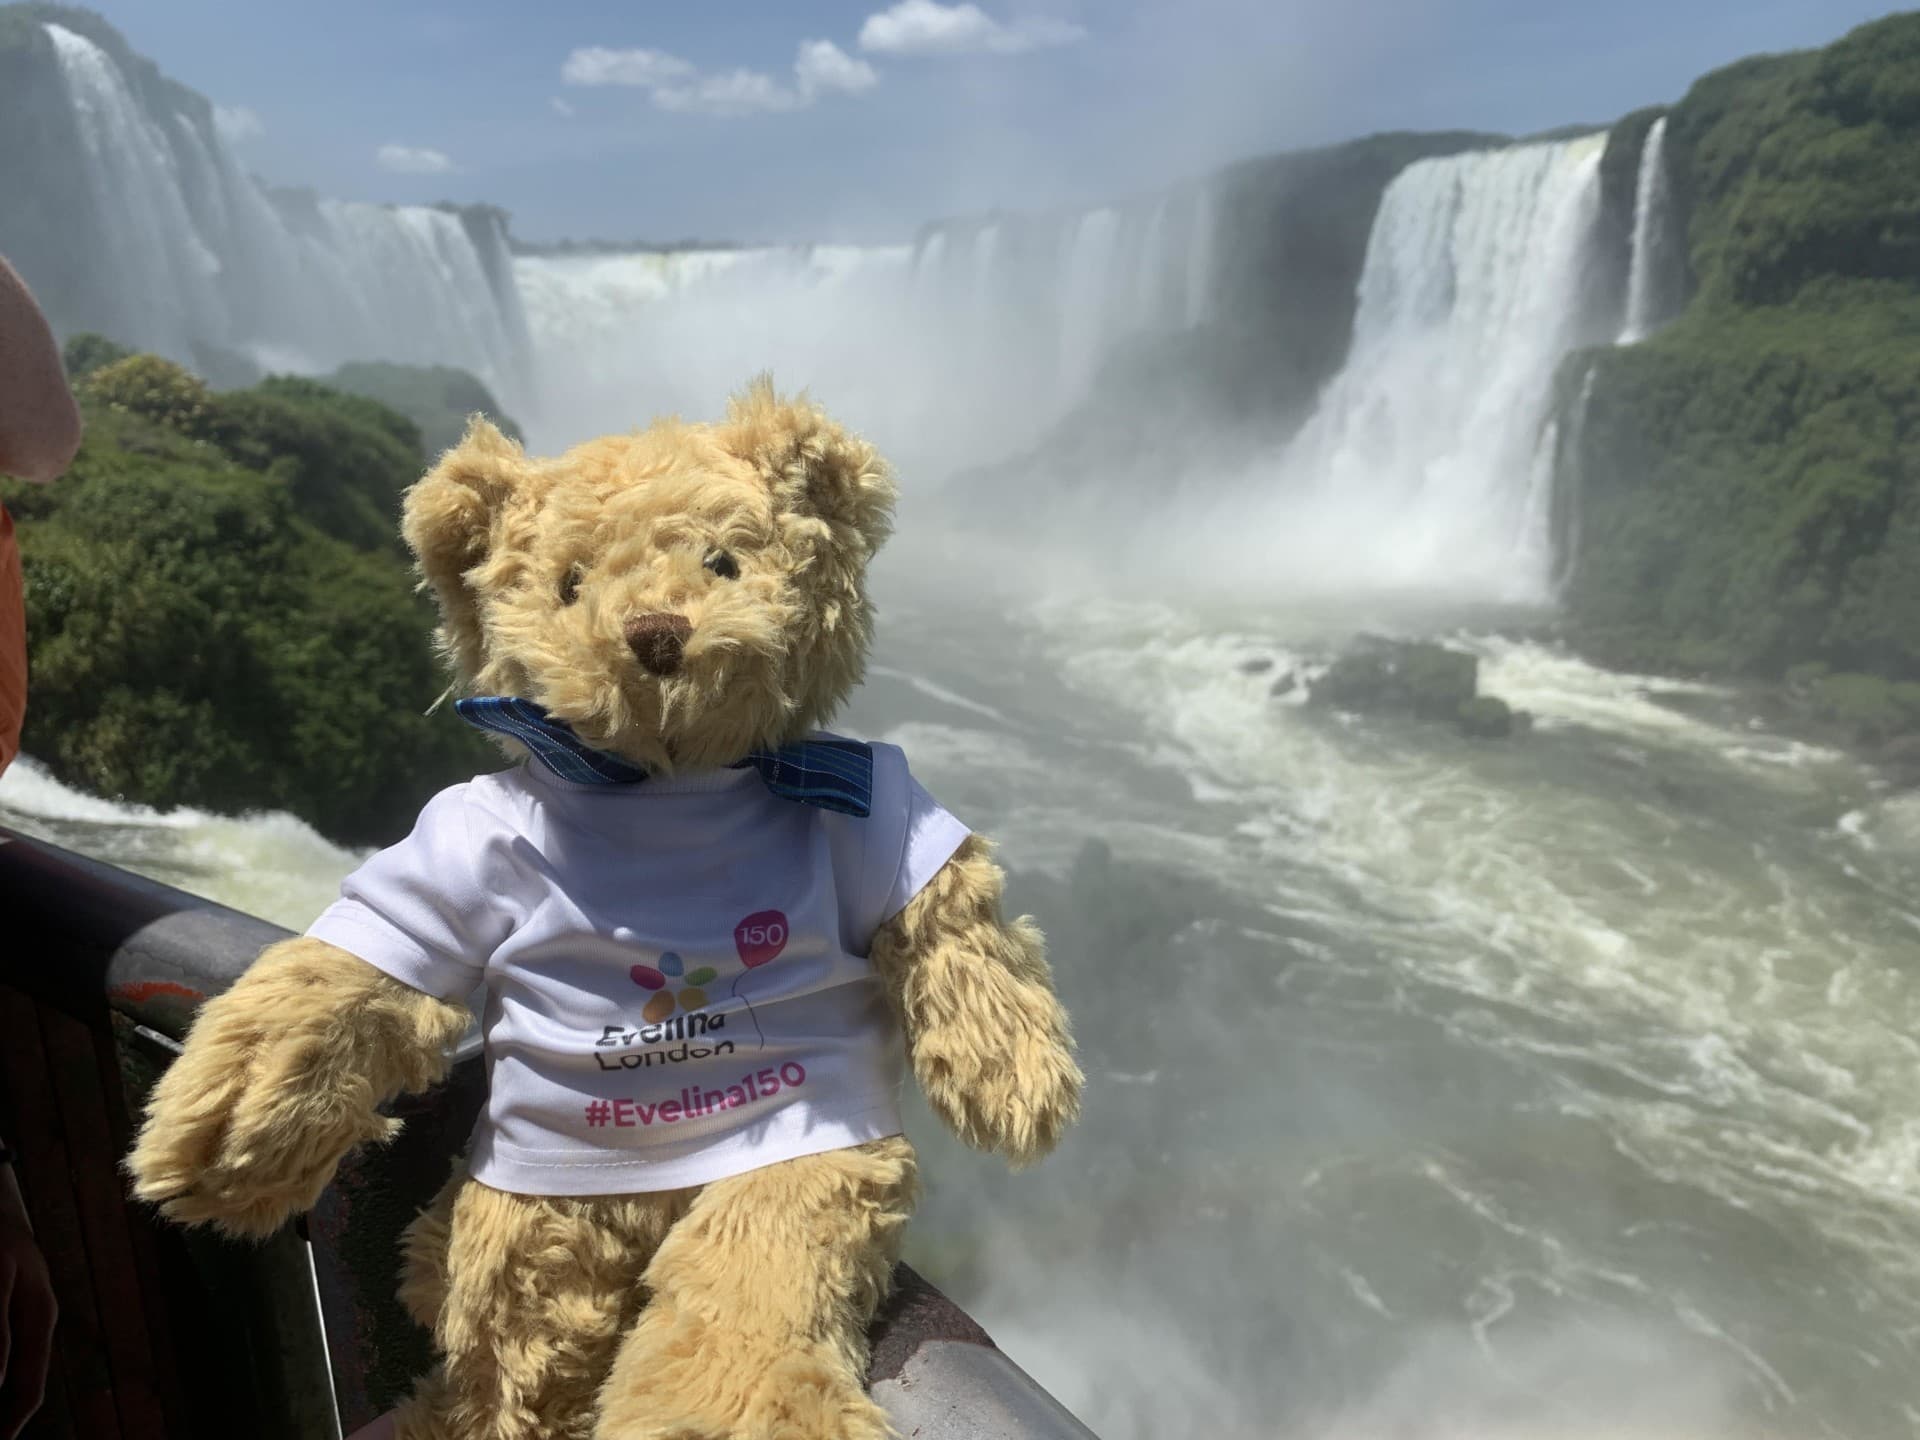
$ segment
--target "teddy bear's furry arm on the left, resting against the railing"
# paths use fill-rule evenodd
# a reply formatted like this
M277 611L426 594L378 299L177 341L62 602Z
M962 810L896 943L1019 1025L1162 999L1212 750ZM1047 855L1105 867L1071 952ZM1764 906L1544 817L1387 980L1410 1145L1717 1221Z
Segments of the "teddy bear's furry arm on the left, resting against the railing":
M200 1008L154 1087L127 1169L171 1219L265 1236L309 1210L346 1154L399 1121L378 1108L447 1073L468 1025L365 960L301 935Z

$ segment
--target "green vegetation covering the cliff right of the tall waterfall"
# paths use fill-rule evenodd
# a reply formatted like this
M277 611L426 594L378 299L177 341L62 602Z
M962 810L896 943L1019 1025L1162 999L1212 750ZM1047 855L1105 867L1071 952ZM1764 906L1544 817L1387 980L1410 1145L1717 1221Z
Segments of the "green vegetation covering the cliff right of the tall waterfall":
M1563 376L1594 376L1571 622L1615 662L1793 672L1859 739L1920 730L1920 15L1701 79L1668 159L1692 303Z

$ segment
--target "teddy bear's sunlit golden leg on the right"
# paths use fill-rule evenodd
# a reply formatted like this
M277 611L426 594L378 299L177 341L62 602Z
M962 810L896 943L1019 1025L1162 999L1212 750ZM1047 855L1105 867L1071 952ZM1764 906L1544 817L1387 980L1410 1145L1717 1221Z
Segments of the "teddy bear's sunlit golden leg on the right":
M883 1440L866 1327L914 1192L904 1137L703 1188L647 1267L597 1440Z

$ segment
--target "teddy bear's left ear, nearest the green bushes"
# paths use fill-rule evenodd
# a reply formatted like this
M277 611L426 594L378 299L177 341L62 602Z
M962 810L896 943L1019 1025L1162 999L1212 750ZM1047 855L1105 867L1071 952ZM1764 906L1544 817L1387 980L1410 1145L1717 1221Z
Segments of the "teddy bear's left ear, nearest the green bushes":
M499 520L534 497L526 453L480 415L467 434L407 490L399 528L440 601L442 643L463 674L480 668L480 612L472 570L497 543Z

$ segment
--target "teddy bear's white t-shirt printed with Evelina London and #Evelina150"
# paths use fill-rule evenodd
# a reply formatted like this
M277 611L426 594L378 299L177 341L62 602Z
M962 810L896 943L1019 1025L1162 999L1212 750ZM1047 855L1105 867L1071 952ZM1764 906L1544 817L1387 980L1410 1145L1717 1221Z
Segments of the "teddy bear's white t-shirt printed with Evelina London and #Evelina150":
M751 768L578 785L528 760L428 801L307 933L445 1000L486 989L474 1179L670 1190L900 1133L866 956L966 835L893 745L864 820Z

